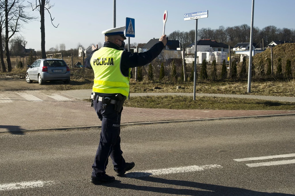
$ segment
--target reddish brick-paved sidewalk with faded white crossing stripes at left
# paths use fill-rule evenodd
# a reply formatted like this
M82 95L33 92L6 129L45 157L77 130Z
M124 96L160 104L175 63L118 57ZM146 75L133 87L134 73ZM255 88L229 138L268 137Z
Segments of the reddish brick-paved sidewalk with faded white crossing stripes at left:
M27 130L99 127L101 121L95 115L94 109L90 107L89 102L82 101L89 98L90 93L91 90L0 91L0 133L23 134ZM190 94L192 93L189 93L189 96ZM138 94L131 94L131 97L136 95L138 96ZM140 95L150 95L150 93ZM295 111L171 110L124 107L121 122L123 125L272 115L295 115Z

